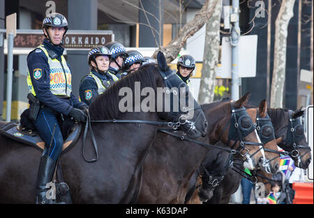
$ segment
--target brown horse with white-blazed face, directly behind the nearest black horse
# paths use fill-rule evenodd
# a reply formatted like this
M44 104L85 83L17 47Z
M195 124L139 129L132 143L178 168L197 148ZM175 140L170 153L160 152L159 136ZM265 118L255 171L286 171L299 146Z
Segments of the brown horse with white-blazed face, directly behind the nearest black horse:
M242 96L241 99L234 102L234 108L243 107L249 97L249 94ZM214 108L210 110L203 108L203 110L206 111L209 127L207 137L199 140L206 143L209 141L212 145L219 140L227 143L229 129L225 127L229 127L230 119L233 119L230 101L218 102ZM250 110L248 115L251 118L246 117L246 119L251 120L256 114L254 114L254 110ZM249 122L249 120L246 121ZM231 126L232 128L233 126ZM255 131L248 133L244 140L253 143L260 142ZM234 144L234 149L240 147L239 141L235 143L234 140L230 140L230 146ZM249 159L248 166L255 168L258 166L258 162L263 161L264 158L260 147L248 144L245 145L245 148L241 149L240 153L247 153L248 155L244 155L244 159ZM137 203L184 203L190 177L200 166L209 150L207 146L180 140L166 133L158 133L147 159L144 161L142 189ZM229 147L228 150L230 150ZM247 152L247 150L249 151ZM252 154L254 155L250 157Z

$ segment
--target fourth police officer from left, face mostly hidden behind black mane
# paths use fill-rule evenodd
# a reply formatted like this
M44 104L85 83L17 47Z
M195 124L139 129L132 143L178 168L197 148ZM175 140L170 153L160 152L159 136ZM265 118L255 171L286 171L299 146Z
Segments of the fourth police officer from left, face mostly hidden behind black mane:
M124 72L119 73L121 78L128 75L128 73L136 71L140 66L142 66L144 61L143 55L136 50L129 50L126 53L128 54L128 57L126 57L126 60L124 61Z

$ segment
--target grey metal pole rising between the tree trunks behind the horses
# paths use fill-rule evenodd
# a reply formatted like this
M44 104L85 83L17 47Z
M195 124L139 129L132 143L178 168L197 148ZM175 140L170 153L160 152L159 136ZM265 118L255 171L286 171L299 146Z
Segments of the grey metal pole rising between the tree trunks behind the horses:
M230 43L232 45L231 58L231 99L237 101L239 99L239 0L232 0L232 33Z

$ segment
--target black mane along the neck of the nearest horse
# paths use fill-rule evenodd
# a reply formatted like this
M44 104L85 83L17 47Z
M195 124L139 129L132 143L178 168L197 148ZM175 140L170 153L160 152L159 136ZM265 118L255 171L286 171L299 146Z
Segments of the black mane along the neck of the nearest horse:
M121 80L114 82L103 94L98 95L89 106L91 119L115 119L123 113L119 110L119 101L125 97L119 96L121 88L129 87L132 89L133 99L135 82L140 82L141 89L143 87L152 87L156 90L155 72L156 68L154 65L146 64L138 68L134 73L129 73L124 78L121 78Z

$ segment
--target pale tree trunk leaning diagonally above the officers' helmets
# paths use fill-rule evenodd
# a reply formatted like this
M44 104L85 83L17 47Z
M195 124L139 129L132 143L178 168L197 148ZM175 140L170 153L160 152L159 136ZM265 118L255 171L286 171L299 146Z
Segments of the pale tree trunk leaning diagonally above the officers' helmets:
M170 41L166 47L161 47L154 52L153 57L156 59L158 51L165 54L167 63L170 63L177 58L180 50L190 36L193 36L198 30L200 30L203 25L209 20L211 15L214 13L214 9L217 2L221 0L206 0L200 11L195 15L193 20L186 23L184 27L179 31L179 34Z

